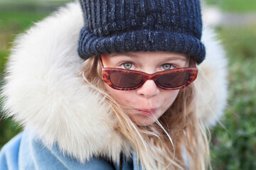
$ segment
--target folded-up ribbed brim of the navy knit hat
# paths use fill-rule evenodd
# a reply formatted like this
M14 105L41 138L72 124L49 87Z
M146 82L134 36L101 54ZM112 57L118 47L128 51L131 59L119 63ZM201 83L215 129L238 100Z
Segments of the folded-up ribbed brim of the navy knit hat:
M119 35L97 37L82 28L78 53L83 59L112 52L169 51L194 57L197 64L203 62L206 49L201 40L184 33L135 30Z

